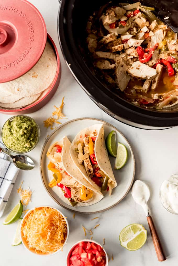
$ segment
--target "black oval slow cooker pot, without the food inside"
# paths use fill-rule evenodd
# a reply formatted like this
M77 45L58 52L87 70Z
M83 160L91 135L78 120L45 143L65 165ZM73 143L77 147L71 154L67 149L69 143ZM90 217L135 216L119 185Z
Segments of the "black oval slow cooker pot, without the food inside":
M178 106L161 111L144 109L122 99L92 71L86 44L86 23L91 14L109 0L62 0L58 13L58 36L70 71L89 97L106 113L131 126L163 129L178 125ZM117 5L118 1L112 1ZM121 1L126 3L137 1ZM156 16L178 32L178 0L140 1L155 7Z

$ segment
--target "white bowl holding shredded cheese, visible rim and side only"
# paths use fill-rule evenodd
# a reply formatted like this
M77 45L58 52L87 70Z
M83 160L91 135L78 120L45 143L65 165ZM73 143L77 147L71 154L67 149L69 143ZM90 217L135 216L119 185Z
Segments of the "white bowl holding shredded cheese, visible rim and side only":
M27 211L27 213L24 215L24 217L23 217L23 219L22 219L21 226L22 226L22 223L23 223L23 220L25 219L25 217L26 217L26 216L27 216L32 210L37 209L37 208L41 208L41 207L50 207L50 208L53 208L53 209L57 210L57 211L58 211L58 212L64 217L65 222L66 222L66 225L67 225L67 236L66 236L66 240L65 240L65 242L64 242L64 246L65 246L65 244L67 243L67 240L68 240L68 236L69 236L69 224L68 224L68 221L67 221L65 215L64 215L60 210L58 210L58 209L56 209L56 208L54 208L54 207L52 207L52 206L43 205L43 206L34 207L33 209ZM35 253L35 250L34 250L34 249L30 249L30 248L28 247L28 244L27 244L27 243L25 242L25 240L23 239L23 236L22 236L22 233L21 233L21 226L20 226L20 237L21 237L21 241L22 241L23 246L24 246L28 251L30 251L30 252L32 252L32 253L34 253L34 254L36 254L36 255L39 255L39 256L51 256L51 255L54 255L54 254L58 253L58 252L61 250L61 249L59 249L59 250L57 250L56 252L54 252L54 253L49 253L49 254ZM63 247L64 247L64 246L63 246Z

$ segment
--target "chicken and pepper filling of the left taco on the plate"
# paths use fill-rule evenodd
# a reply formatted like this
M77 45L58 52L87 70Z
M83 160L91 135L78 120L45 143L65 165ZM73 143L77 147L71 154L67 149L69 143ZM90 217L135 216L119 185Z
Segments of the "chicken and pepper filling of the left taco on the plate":
M93 191L80 184L75 178L70 176L63 167L62 145L54 145L52 151L47 152L50 159L48 169L53 172L53 180L48 184L50 188L58 186L64 192L64 197L68 198L72 206L78 202L89 202L93 199Z

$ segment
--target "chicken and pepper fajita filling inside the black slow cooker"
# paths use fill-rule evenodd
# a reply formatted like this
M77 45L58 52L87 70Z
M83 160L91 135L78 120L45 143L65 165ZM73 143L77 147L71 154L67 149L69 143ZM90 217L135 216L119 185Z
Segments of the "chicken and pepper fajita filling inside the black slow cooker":
M101 7L89 17L87 38L97 74L135 105L178 103L177 33L140 2Z

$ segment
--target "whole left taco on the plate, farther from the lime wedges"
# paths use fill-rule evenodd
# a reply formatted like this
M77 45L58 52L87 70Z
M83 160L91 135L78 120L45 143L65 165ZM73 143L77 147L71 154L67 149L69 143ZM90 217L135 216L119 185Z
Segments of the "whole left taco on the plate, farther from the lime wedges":
M103 198L73 163L69 149L70 141L65 136L53 143L47 152L49 186L67 204L80 207L89 206Z

